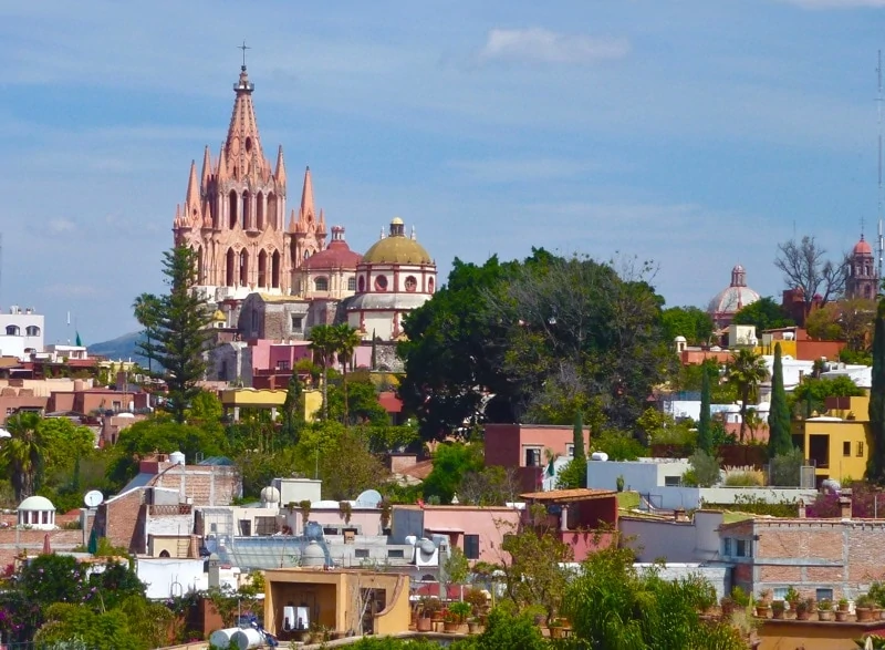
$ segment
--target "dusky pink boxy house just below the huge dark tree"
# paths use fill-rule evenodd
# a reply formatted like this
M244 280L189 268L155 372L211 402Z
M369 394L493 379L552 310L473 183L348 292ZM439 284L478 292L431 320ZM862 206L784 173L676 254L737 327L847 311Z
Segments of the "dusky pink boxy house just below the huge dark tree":
M513 467L522 489L538 489L546 466L546 452L574 456L573 427L548 424L487 424L486 465ZM584 448L590 429L584 427Z

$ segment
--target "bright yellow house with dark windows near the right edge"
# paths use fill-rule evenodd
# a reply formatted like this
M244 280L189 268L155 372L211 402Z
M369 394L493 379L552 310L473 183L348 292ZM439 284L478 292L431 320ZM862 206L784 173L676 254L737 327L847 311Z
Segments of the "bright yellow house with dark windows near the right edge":
M802 450L815 466L819 484L825 478L864 477L872 435L868 409L867 395L830 398L824 415L802 422Z

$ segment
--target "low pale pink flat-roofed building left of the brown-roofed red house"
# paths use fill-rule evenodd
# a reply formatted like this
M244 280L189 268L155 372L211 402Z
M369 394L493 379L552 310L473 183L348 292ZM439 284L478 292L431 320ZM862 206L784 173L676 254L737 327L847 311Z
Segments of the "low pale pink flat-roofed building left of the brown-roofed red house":
M504 535L519 525L521 510L510 507L397 505L392 515L391 543L406 537L445 535L469 560L500 563Z

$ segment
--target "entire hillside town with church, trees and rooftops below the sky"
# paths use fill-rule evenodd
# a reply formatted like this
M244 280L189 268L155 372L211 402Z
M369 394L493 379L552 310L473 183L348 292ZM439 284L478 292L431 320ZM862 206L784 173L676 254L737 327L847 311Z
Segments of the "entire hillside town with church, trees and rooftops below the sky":
M395 205L345 237L250 72L137 357L2 308L0 648L885 647L867 233L700 307L544 248L438 277Z

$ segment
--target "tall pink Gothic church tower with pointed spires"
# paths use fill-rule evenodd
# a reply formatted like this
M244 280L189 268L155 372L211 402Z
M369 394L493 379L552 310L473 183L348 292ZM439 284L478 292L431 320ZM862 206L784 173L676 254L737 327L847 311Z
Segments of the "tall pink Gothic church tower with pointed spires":
M246 65L233 84L236 99L228 136L215 163L209 147L202 172L196 162L184 206L175 211L176 246L199 255L199 287L212 301L242 299L252 292L289 295L292 275L304 259L325 247L325 219L313 206L310 168L301 206L285 223L287 177L283 148L271 168L258 133Z

